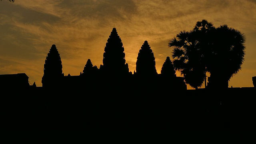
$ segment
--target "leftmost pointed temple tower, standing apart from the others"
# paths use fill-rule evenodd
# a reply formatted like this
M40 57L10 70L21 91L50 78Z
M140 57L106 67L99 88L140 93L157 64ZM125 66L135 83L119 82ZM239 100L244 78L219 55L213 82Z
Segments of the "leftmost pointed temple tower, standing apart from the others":
M42 77L42 86L52 85L60 82L60 78L64 76L62 73L62 62L60 54L55 46L52 45L46 56L44 64L44 75Z

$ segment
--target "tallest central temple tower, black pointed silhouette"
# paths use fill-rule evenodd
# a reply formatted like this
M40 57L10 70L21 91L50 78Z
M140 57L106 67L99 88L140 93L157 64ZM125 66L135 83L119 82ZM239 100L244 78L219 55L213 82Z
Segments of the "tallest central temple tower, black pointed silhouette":
M128 74L128 64L125 64L125 53L122 40L116 31L116 28L112 29L112 32L107 40L103 54L103 65L100 65L100 70L105 74Z

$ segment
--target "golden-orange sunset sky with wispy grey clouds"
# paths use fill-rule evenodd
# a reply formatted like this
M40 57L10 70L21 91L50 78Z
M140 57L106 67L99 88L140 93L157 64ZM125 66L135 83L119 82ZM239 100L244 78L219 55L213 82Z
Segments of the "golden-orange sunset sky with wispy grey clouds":
M169 40L203 19L215 27L226 24L246 36L244 63L229 87L253 87L256 0L2 0L0 74L26 73L30 85L42 86L52 44L65 76L80 75L88 59L100 68L113 28L122 40L129 71L136 70L138 52L147 40L160 74L166 57L171 58ZM178 71L176 75L181 76Z

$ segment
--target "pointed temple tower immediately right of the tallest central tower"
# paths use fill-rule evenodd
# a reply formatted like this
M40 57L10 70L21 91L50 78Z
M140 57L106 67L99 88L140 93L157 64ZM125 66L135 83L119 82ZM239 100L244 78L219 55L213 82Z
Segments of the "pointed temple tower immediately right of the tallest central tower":
M138 53L136 61L136 75L152 76L156 74L156 61L154 53L150 48L148 41L145 40Z

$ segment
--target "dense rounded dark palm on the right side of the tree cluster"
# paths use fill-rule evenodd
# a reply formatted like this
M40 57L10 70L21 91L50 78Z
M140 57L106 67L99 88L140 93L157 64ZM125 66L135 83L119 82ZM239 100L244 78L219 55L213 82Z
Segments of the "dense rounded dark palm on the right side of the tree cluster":
M237 29L222 25L214 30L211 39L208 84L212 88L228 88L230 78L241 70L244 62L246 37Z

